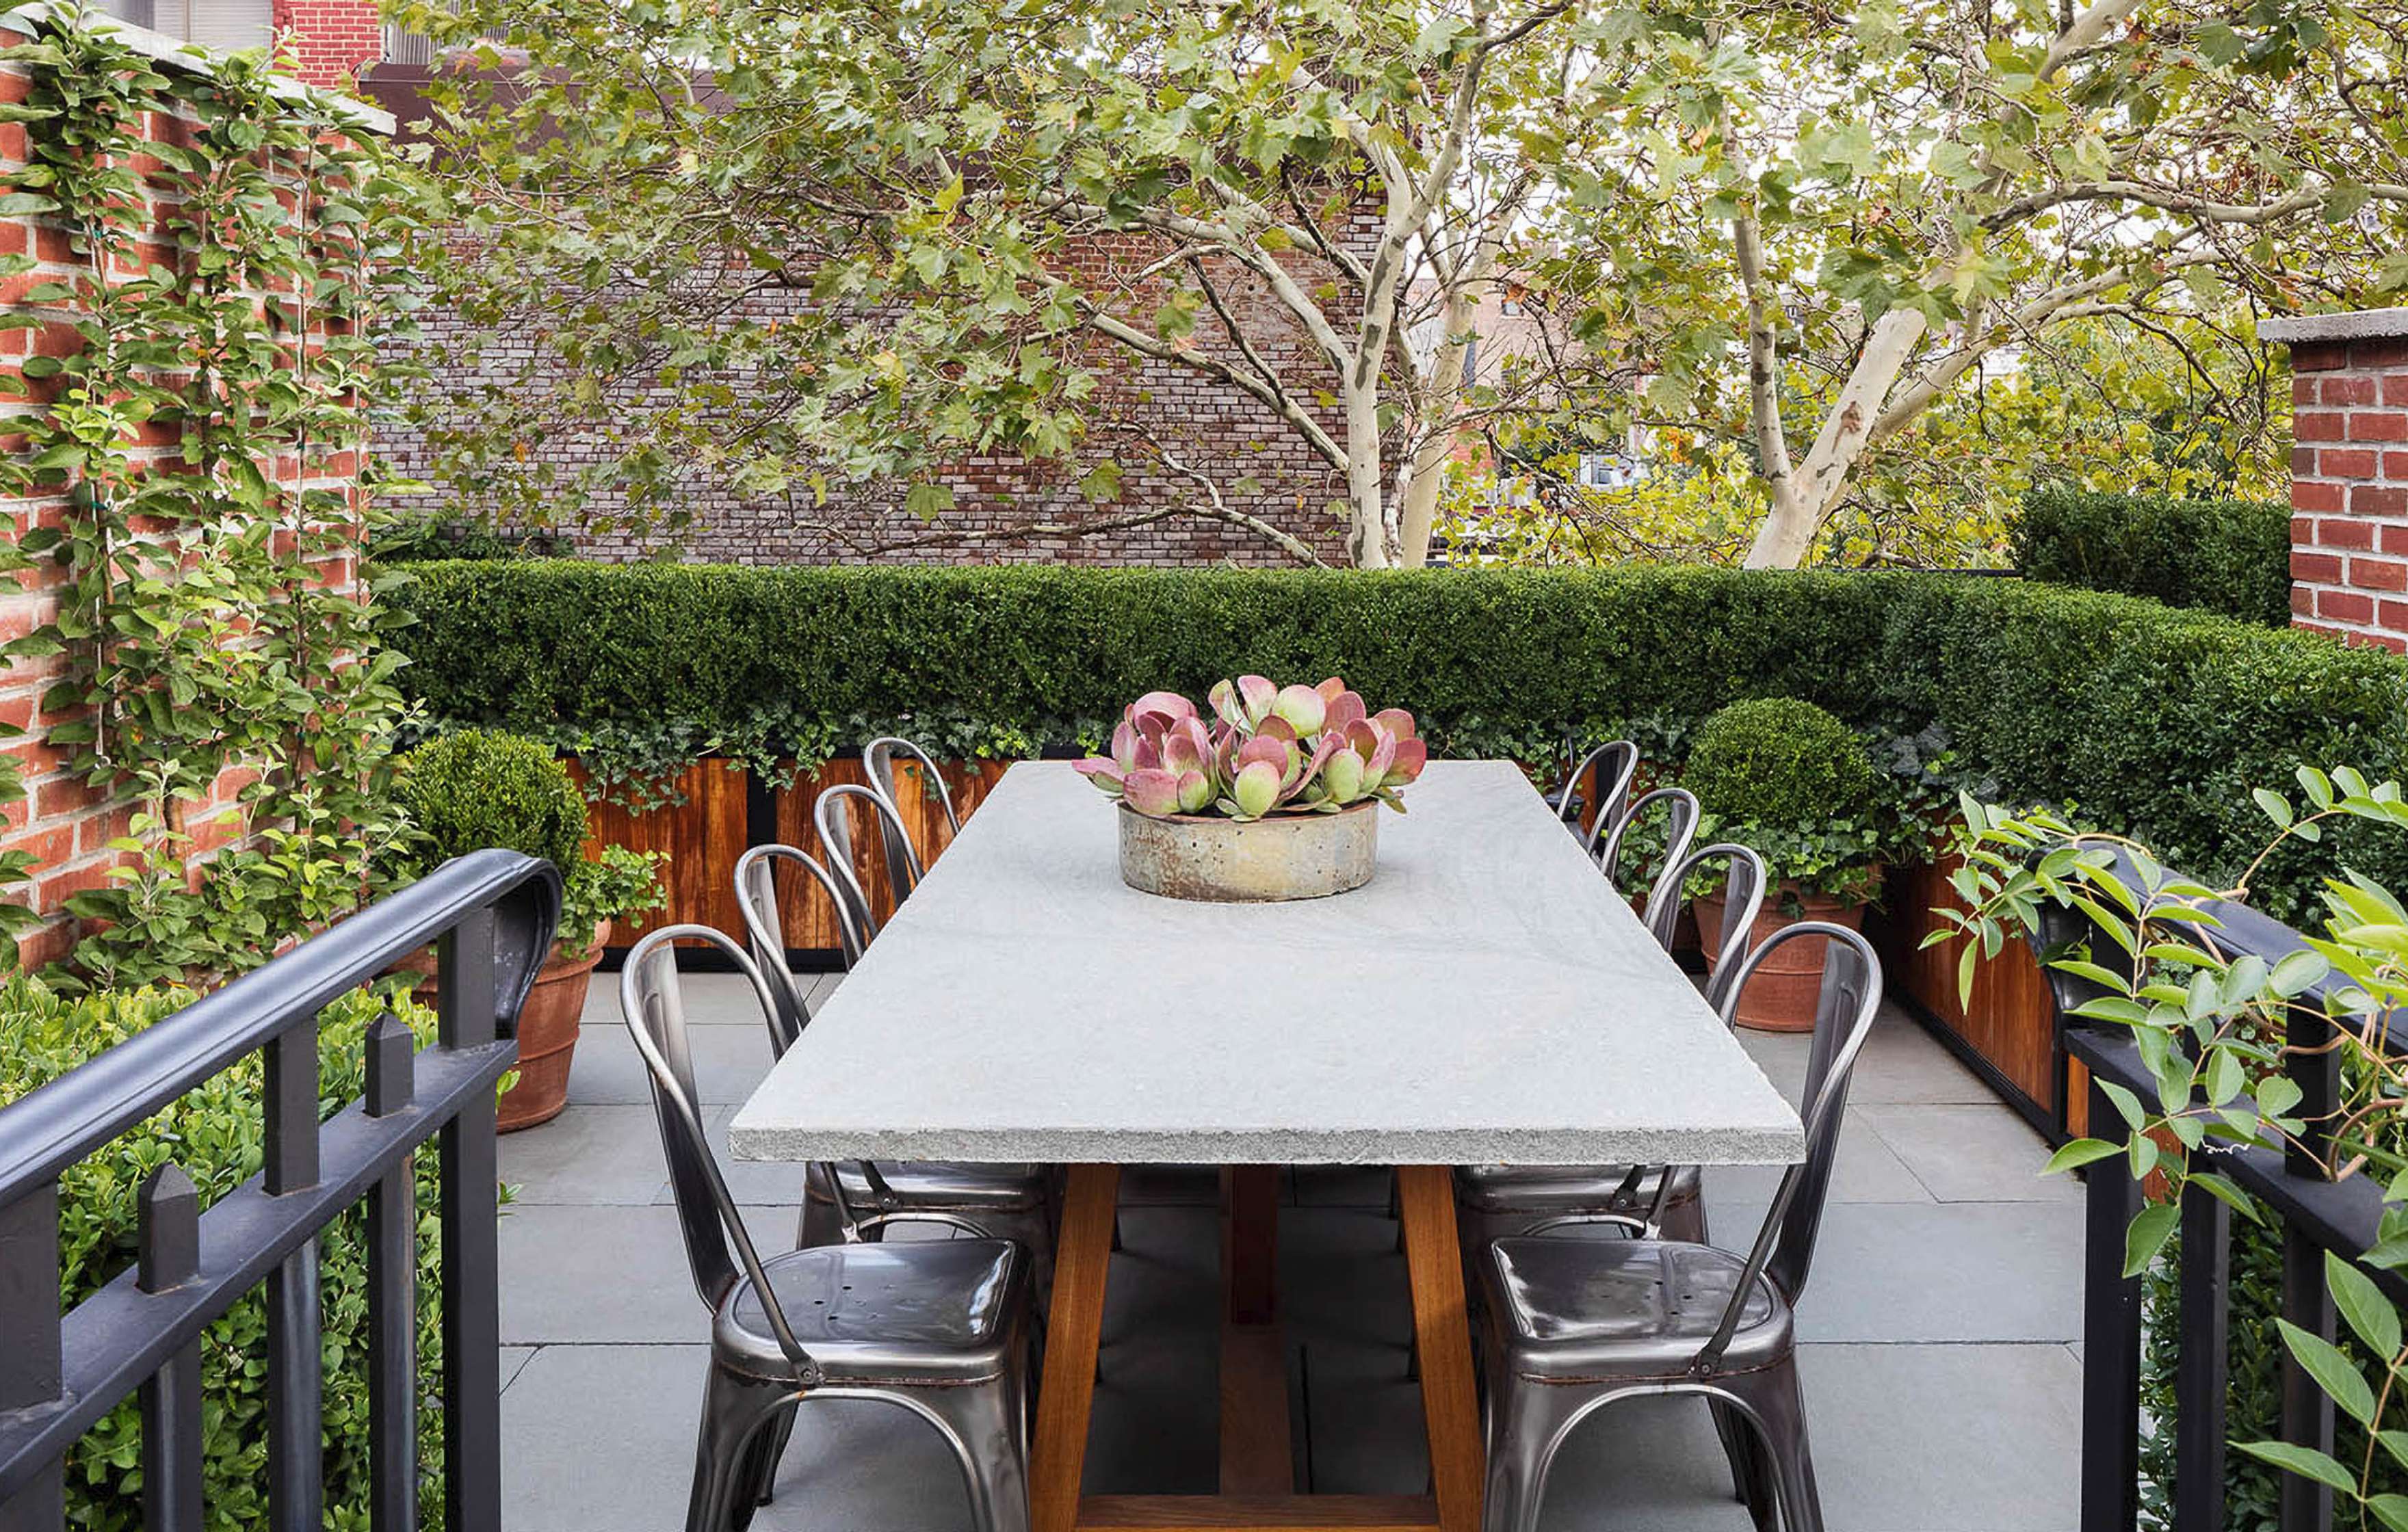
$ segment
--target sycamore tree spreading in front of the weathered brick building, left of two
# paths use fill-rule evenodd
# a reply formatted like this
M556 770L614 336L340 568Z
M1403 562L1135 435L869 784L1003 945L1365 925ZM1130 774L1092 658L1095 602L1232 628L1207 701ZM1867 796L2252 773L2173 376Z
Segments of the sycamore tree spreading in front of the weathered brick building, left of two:
M908 484L901 549L1245 511L1230 465L1127 422L1132 369L1250 400L1327 467L1346 559L1418 564L1481 419L1628 395L1539 330L1471 357L1589 161L1601 31L1568 0L465 0L431 92L472 357L438 477L506 513L698 475L799 515ZM1108 263L1096 251L1112 251ZM1599 272L1609 279L1611 272ZM1587 294L1556 275L1570 313ZM590 443L561 479L535 438ZM1047 462L1079 518L946 525L942 470ZM1122 479L1187 487L1115 511ZM884 549L879 549L884 552Z

